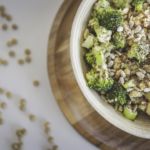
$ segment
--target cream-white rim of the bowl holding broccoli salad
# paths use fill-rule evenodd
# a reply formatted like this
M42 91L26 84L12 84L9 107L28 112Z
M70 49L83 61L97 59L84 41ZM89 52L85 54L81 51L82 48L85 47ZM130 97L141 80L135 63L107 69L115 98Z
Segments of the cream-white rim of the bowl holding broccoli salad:
M115 127L131 134L137 137L150 139L150 128L143 129L139 125L136 125L135 123L131 122L130 120L125 119L123 116L120 117L120 119L114 119L115 117L111 117L110 110L108 111L108 108L103 106L101 102L98 101L97 97L92 94L92 90L87 87L87 84L85 82L85 78L83 75L82 67L81 67L81 60L80 60L80 50L77 50L77 44L79 44L78 41L81 41L81 35L79 36L77 33L78 30L83 28L83 25L81 25L82 17L86 17L87 8L92 7L91 5L94 4L96 0L82 0L77 13L75 15L72 29L71 29L71 37L70 37L70 58L71 58L71 65L73 68L73 72L75 75L75 79L78 83L78 86L80 90L82 91L83 95L85 96L86 100L89 102L89 104L110 124L114 125ZM87 21L87 20L86 20ZM81 34L81 33L80 33ZM78 47L79 49L80 46ZM106 103L106 102L105 102ZM113 108L114 109L114 108ZM105 111L104 111L105 110ZM117 114L117 113L116 113ZM122 118L122 119L121 119ZM125 123L121 123L121 120L123 120ZM127 128L130 126L129 128ZM135 131L135 127L137 130Z

